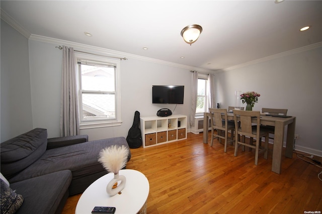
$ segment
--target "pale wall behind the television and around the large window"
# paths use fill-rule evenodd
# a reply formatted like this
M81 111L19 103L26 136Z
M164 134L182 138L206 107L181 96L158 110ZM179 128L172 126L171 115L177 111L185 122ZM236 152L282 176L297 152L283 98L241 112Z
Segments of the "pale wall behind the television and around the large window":
M59 136L60 85L62 51L55 44L29 41L33 126L48 130L48 137ZM133 124L134 112L154 116L162 108L175 109L175 104L152 104L152 85L185 85L184 104L173 114L190 114L190 69L150 62L125 56L121 61L122 125L81 130L90 140L124 136Z

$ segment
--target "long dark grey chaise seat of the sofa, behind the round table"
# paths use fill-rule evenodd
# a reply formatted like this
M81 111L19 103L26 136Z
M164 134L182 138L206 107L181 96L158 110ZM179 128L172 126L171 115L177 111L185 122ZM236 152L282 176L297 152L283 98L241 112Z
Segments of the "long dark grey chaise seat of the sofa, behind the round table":
M124 137L90 141L87 143L50 149L34 164L20 172L17 176L9 179L9 181L12 183L55 171L69 169L72 172L72 182L70 184L69 193L76 194L82 192L93 181L107 173L102 164L98 162L98 156L103 148L111 145L124 145L129 149ZM131 153L128 155L128 161L130 158Z

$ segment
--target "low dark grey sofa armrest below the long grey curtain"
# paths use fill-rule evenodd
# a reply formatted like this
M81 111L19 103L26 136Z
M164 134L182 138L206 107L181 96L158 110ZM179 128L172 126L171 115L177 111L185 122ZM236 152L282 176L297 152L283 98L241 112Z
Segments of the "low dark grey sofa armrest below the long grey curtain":
M63 147L63 146L70 146L78 143L85 143L88 141L89 141L88 135L75 135L75 136L67 136L67 137L48 138L47 150Z

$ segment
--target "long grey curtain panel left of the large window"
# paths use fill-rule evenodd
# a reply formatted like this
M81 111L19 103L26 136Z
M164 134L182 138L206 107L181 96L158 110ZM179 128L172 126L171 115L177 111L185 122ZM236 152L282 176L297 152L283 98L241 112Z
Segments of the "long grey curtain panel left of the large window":
M79 134L76 64L73 48L63 46L60 136Z

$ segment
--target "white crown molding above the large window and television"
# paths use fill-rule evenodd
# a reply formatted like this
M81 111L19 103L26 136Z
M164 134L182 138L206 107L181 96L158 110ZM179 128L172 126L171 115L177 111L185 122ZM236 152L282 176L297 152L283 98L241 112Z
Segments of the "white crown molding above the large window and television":
M126 57L128 59L138 59L138 60L142 60L142 61L148 61L148 62L164 64L164 65L169 65L169 66L178 67L178 68L184 68L187 70L198 70L200 72L208 72L208 73L214 72L213 70L207 70L207 69L188 66L188 65L182 65L182 64L178 64L178 63L164 61L164 60L153 59L153 58L139 56L139 55L135 55L135 54L124 53L124 52L120 52L120 51L114 51L111 49L106 49L106 48L101 48L101 47L96 47L96 46L91 46L91 45L85 45L85 44L70 42L70 41L66 41L66 40L54 39L54 38L39 36L39 35L35 35L35 34L31 34L31 36L29 37L29 40L52 43L52 44L57 45L57 47L59 45L65 45L65 46L73 47L75 50L78 50L78 51L86 51L86 52L90 52L93 54L95 53L95 54L104 54L104 55L113 56L113 57L117 56L117 57L121 57L121 58Z

